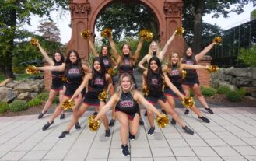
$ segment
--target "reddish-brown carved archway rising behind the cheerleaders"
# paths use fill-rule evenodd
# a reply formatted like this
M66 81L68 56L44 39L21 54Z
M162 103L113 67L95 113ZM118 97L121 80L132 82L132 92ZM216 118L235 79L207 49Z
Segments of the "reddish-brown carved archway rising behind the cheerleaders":
M79 51L81 58L89 58L88 40L82 39L80 32L84 29L93 31L100 11L112 2L115 1L70 0L72 37L68 42L68 49ZM159 22L160 45L163 47L177 26L181 26L182 0L140 0L139 2L148 6L155 13ZM184 39L182 37L175 38L174 42L170 44L170 48L183 53Z

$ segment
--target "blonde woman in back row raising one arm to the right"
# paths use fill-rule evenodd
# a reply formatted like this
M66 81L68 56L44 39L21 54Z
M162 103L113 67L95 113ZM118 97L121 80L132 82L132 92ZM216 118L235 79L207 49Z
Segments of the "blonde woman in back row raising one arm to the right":
M149 63L149 59L152 57L157 57L160 59L160 61L162 61L164 55L167 53L167 49L170 43L174 40L174 37L175 37L175 31L172 34L172 36L167 40L167 43L164 45L162 51L160 51L157 42L152 41L151 44L149 45L149 53L146 54L141 61L139 61L139 64L138 64L139 68L146 70L146 68L143 65L144 63Z

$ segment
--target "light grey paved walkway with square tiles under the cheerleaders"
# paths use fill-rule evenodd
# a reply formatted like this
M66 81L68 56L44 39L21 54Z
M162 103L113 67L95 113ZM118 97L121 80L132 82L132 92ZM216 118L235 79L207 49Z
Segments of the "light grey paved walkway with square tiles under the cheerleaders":
M202 109L201 109L202 110ZM186 124L195 131L188 135L179 125L156 127L147 135L149 123L140 126L135 141L129 142L131 156L121 153L119 124L111 128L110 138L104 138L104 128L89 131L86 112L79 121L82 129L72 129L67 138L58 139L72 113L64 120L56 119L47 131L41 128L50 114L38 120L37 115L0 118L0 160L86 160L86 161L172 161L172 160L256 160L256 108L213 108L216 114L205 114L210 124L198 121L195 114L184 115ZM203 110L202 110L203 111ZM110 112L107 114L110 118Z

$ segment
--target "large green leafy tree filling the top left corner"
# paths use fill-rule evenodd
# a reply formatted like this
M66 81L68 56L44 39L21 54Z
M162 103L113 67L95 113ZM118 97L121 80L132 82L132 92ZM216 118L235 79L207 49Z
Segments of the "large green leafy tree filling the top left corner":
M0 1L0 68L5 78L13 78L12 51L14 40L23 38L23 24L30 24L30 16L48 16L57 9L67 9L68 0L2 0Z

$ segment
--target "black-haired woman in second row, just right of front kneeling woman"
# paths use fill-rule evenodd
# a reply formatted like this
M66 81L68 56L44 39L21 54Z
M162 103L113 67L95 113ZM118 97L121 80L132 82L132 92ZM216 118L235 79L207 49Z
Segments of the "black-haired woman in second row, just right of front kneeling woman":
M181 124L181 127L188 134L193 135L194 131L191 131L184 121L178 116L178 114L174 111L174 107L170 107L170 104L167 102L167 99L163 95L163 83L165 83L170 89L177 93L181 98L184 98L184 95L179 92L179 90L170 82L168 77L163 77L161 62L159 58L152 57L149 59L148 69L143 72L142 75L143 87L149 89L148 96L145 96L146 100L153 105L156 103L160 104L160 107L163 108L167 114ZM147 110L148 119L150 127L148 131L148 135L152 135L155 131L154 125L154 114L151 110Z

